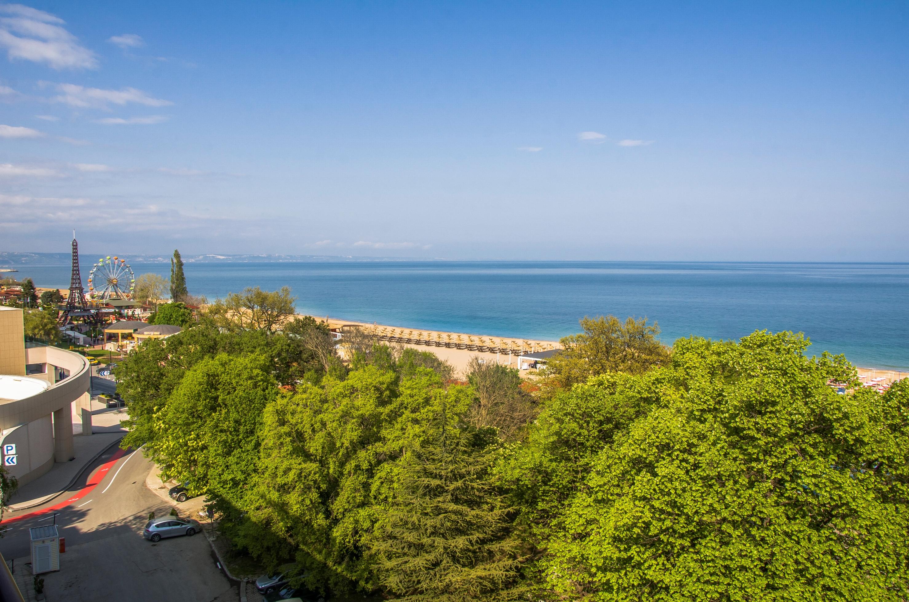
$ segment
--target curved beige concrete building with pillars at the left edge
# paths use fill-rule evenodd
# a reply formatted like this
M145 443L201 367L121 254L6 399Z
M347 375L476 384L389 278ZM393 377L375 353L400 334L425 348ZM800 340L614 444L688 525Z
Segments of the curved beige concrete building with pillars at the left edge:
M84 404L90 379L84 356L26 348L23 311L0 306L0 455L20 486L73 459L73 403ZM15 445L15 463L2 453L7 445Z

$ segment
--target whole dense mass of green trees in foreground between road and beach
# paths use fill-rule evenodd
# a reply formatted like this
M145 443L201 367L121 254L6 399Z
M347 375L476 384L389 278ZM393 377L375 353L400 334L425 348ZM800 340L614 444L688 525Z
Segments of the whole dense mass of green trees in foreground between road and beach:
M216 318L116 368L122 445L145 444L294 583L405 600L909 595L909 380L857 386L803 336L692 337L670 355L642 321L598 320L574 340L602 353L531 396L505 366L474 362L464 385L375 340L345 366L312 318Z

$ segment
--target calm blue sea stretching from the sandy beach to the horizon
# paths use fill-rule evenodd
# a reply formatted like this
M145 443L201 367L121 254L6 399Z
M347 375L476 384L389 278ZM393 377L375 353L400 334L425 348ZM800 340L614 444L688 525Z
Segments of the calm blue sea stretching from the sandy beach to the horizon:
M16 268L37 286L69 286L69 266ZM81 269L85 279L91 264ZM789 330L809 353L909 370L909 264L245 261L187 263L185 275L209 300L290 286L301 313L479 335L557 340L610 314L646 317L666 344Z

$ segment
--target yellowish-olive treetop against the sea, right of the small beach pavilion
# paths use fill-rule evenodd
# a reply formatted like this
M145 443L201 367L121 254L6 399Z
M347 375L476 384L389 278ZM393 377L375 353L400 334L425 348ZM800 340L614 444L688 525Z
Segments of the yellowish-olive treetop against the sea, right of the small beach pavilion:
M629 317L622 324L615 316L584 317L584 332L565 336L563 350L550 357L544 375L555 386L570 387L590 376L607 372L641 374L669 361L669 350L656 336L660 328L647 318Z

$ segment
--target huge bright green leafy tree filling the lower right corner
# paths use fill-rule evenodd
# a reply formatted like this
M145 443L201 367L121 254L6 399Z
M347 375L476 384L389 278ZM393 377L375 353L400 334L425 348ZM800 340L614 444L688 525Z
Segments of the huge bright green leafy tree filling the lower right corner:
M905 599L909 382L836 395L827 382L855 383L854 370L806 346L791 333L680 339L671 366L591 380L620 411L563 477L572 487L544 541L545 588L592 600Z

